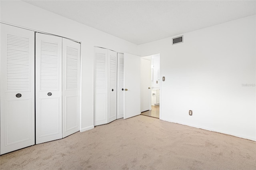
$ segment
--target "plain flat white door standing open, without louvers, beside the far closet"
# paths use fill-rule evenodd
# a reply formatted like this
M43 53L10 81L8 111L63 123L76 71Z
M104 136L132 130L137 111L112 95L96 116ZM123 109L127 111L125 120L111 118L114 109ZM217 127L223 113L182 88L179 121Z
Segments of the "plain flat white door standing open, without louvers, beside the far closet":
M140 57L124 53L124 119L140 115Z

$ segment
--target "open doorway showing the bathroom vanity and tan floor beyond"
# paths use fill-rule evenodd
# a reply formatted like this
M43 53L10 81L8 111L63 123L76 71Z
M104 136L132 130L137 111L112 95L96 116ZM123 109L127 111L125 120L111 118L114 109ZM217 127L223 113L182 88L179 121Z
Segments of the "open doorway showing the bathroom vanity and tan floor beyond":
M160 54L141 57L141 115L159 118Z

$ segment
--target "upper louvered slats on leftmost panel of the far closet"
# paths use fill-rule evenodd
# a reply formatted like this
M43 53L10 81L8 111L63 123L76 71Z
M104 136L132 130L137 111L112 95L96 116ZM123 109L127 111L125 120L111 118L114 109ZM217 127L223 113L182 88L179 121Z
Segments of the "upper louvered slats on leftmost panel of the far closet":
M95 87L106 88L106 54L95 53Z

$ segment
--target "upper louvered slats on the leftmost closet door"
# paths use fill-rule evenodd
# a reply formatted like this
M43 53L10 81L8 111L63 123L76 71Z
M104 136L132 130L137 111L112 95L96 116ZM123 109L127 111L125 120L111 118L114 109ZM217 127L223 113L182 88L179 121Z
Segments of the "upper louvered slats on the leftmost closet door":
M30 91L29 38L7 34L6 90Z

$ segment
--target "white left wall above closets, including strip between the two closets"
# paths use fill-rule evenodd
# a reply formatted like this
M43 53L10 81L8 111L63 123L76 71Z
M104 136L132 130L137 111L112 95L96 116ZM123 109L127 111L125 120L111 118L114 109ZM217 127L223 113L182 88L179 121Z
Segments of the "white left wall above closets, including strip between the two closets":
M78 40L81 43L81 131L93 128L94 45L137 54L137 45L22 1L0 1L0 21Z

